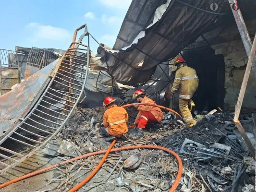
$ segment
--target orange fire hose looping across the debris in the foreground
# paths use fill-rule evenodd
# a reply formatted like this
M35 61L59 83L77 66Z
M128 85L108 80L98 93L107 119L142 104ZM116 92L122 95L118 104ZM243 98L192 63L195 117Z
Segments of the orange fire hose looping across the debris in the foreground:
M113 141L113 143L110 145L110 147L109 147L109 149L108 149L107 151L96 151L96 152L93 152L93 153L85 154L85 155L83 155L83 156L77 156L77 157L75 157L75 158L70 159L69 161L75 161L75 160L79 160L79 159L82 159L82 158L85 158L85 157L88 157L88 156L94 156L94 155L99 155L99 154L103 154L103 153L108 154L108 151L111 149L111 147L113 146L114 142L115 142L115 141ZM180 156L179 156L178 154L176 154L174 151L172 151L171 149L168 149L168 148L165 148L165 147L161 147L161 146L155 146L155 145L138 145L138 146L125 146L125 147L120 147L120 148L114 148L114 149L111 149L110 152L116 152L116 151L122 151L122 150L129 150L129 149L140 149L140 148L163 150L163 151L166 151L166 152L170 153L171 155L173 155L173 156L177 159L178 165L179 165L178 174L177 174L177 177L176 177L176 179L175 179L174 183L172 184L171 189L170 189L170 191L169 191L169 192L174 192L175 189L177 188L177 186L178 186L180 180L181 180L181 177L182 177L182 170L183 170L182 167L183 167L183 166L182 166L182 160L181 160ZM105 154L105 156L104 156L105 159L106 159L106 157L107 157L106 154ZM104 162L104 160L105 160L104 157L103 157L103 159L102 159L100 162ZM62 161L60 164L64 165L64 164L69 163L69 161ZM99 165L100 165L100 164L99 164ZM101 165L100 165L100 166L99 166L99 165L97 166L98 169L99 169L100 166L101 166ZM44 171L48 171L48 170L50 170L50 169L52 169L52 168L55 168L55 167L60 167L60 165L59 165L59 164L55 164L55 165L53 165L53 166L49 166L49 167L46 167L46 168L41 168L41 169L39 169L39 170L37 170L37 171L34 171L34 172L32 172L32 173L28 173L28 174L26 174L26 175L24 175L24 176L21 176L21 177L18 177L18 178L16 178L16 179L14 179L14 180L10 180L10 181L8 181L8 182L5 182L5 183L1 184L1 185L0 185L0 189L1 189L1 188L4 188L4 187L6 187L6 186L8 186L8 185L10 185L10 184L12 184L12 183L18 182L18 181L20 181L20 180L24 180L24 179L27 179L27 178L29 178L29 177L38 175L39 173L42 173L42 172L44 172ZM96 168L92 173L95 174L95 173L98 171L97 168ZM91 173L91 174L92 174L92 173ZM91 176L91 175L90 175L90 176ZM89 177L90 177L90 176L89 176ZM92 176L93 176L93 175L92 175ZM82 181L81 183L83 183L83 184L79 183L79 184L78 184L79 187L82 187L88 180L90 180L90 179L92 178L92 176L91 176L90 178L87 177L87 178L89 178L89 179L86 178L84 181ZM78 186L78 185L77 185L77 186ZM78 189L79 189L79 188L78 188ZM73 190L73 189L71 189L71 190ZM71 190L70 190L69 192L74 192L74 191L71 191Z

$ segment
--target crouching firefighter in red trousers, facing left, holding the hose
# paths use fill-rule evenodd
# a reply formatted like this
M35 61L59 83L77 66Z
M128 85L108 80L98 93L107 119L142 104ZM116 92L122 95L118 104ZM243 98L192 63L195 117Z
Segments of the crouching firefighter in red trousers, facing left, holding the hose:
M138 103L149 103L156 105L155 101L148 98L146 93L142 89L138 89L134 92L133 98L137 99ZM163 118L163 112L160 108L148 105L138 105L134 103L134 108L137 108L138 115L134 121L134 125L138 128L138 132L131 134L131 139L140 139L144 136L144 130L147 124L155 123L158 128L161 126L161 121Z

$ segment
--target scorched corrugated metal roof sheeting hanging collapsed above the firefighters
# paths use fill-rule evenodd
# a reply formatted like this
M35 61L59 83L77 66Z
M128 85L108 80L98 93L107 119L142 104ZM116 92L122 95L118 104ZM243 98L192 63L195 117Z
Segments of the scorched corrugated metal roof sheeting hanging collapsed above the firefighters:
M220 9L214 13L202 11L206 3L228 3L226 0L183 1L190 6L180 0L168 0L157 10L151 10L146 9L148 3L159 5L162 1L133 0L114 48L122 48L133 42L132 45L118 52L105 49L108 51L106 52L103 48L98 48L98 55L103 56L102 66L109 69L117 82L135 86L145 83L151 78L159 63L175 57L198 36L218 25L215 21L221 17L219 13L222 11ZM140 6L135 9L138 4ZM145 25L149 23L148 18L151 19L153 12L155 12L154 23L145 29ZM143 20L142 16L147 19ZM144 28L145 31L139 32L139 27L136 30L137 26L140 26L140 29ZM137 37L134 39L134 36ZM125 43L120 42L121 38Z

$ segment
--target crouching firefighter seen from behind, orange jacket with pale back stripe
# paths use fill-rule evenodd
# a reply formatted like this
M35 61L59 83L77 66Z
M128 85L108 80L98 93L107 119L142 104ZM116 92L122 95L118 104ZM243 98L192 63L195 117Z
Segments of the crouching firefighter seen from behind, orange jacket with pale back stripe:
M107 108L103 115L104 127L101 127L101 132L108 137L105 141L114 140L116 137L121 137L128 132L126 124L128 121L127 111L115 105L115 99L111 96L105 98L103 106Z

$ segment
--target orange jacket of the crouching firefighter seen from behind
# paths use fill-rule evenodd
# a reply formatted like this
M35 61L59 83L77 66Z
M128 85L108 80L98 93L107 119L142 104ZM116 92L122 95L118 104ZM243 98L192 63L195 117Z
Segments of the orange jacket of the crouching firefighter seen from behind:
M124 108L112 105L105 111L103 115L103 123L105 130L113 136L119 136L128 132L126 122L128 114Z

